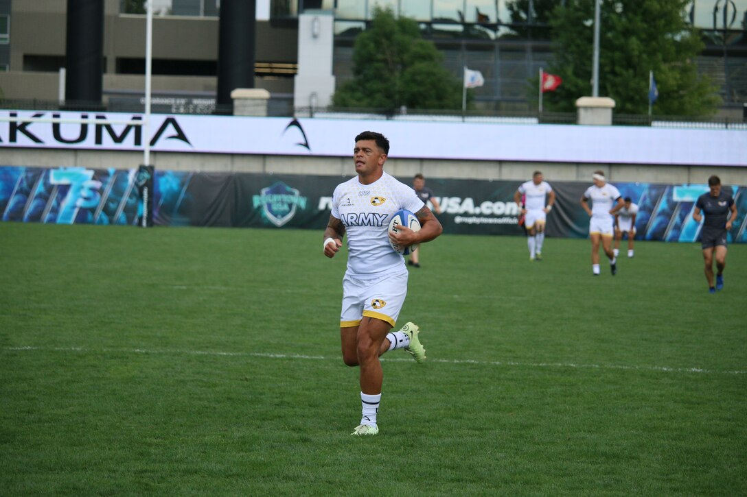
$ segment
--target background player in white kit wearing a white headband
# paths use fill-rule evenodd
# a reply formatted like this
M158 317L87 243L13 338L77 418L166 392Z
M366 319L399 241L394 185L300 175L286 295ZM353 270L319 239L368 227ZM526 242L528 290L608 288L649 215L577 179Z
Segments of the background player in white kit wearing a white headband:
M581 207L586 210L589 221L589 239L592 240L592 274L599 275L599 242L604 253L610 259L612 275L617 273L617 258L612 250L613 217L622 209L622 197L616 187L607 183L603 171L595 171L592 175L594 184L586 189L581 197ZM589 200L592 208L589 209Z

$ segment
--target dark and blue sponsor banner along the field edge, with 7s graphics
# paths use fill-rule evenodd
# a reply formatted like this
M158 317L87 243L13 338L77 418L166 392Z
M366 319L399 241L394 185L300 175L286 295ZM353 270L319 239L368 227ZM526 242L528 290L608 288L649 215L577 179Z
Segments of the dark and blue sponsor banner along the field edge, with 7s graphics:
M150 173L150 178L144 174ZM208 173L152 169L43 169L0 167L3 221L57 224L139 225L143 184L152 181L152 223L161 226L306 228L322 231L332 192L346 178L318 175ZM409 184L412 178L400 178ZM428 180L441 205L444 233L518 235L513 196L521 181ZM550 237L587 237L589 216L580 198L590 183L556 182L557 200L548 215ZM636 239L693 242L701 225L692 219L695 201L708 190L699 184L616 183L639 205ZM739 216L731 242L747 242L747 187L731 189Z

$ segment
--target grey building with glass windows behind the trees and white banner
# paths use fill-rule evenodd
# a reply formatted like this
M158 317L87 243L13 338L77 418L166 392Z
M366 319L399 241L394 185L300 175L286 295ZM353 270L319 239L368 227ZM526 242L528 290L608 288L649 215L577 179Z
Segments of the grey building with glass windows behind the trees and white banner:
M143 93L143 0L102 1L102 101L108 110L131 110ZM267 16L255 22L254 86L270 93L270 115L292 115L294 107L324 107L328 97L304 87L320 76L326 78L321 87L333 92L335 82L352 78L356 34L365 30L378 4L416 19L424 38L436 43L454 75L461 76L464 66L482 72L485 84L475 90L480 109L530 111L536 104L527 96L527 81L551 62L548 16L551 7L563 1L258 2ZM22 107L31 108L62 99L67 4L66 0L0 0L0 88L4 99L15 102L10 107L19 107L18 101L28 102ZM214 112L220 0L155 0L153 4L154 110ZM319 38L320 31L326 35L332 30L332 36L320 37L321 43L332 45L325 47L331 49L329 74L312 73L308 78L303 71L299 74L305 57L306 67L318 62L318 51L303 50L308 46L308 40L300 37L299 19L304 14L314 15L317 22L311 25L309 40ZM699 71L719 87L724 102L720 115L741 119L747 101L747 0L694 0L689 18L702 30L707 44L696 62Z

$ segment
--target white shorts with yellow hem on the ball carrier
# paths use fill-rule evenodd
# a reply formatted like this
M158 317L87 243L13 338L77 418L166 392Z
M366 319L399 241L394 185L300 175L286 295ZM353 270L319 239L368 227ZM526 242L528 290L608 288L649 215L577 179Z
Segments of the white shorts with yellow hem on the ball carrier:
M406 269L374 280L359 280L346 273L342 279L340 328L360 325L363 316L381 319L394 327L407 296L407 277Z

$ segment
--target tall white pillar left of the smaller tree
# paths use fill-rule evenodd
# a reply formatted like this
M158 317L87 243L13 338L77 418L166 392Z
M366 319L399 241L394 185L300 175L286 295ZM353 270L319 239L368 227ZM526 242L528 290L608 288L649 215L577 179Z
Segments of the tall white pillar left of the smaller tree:
M293 96L297 115L309 115L315 108L332 104L334 22L330 10L306 10L298 16L298 74Z

